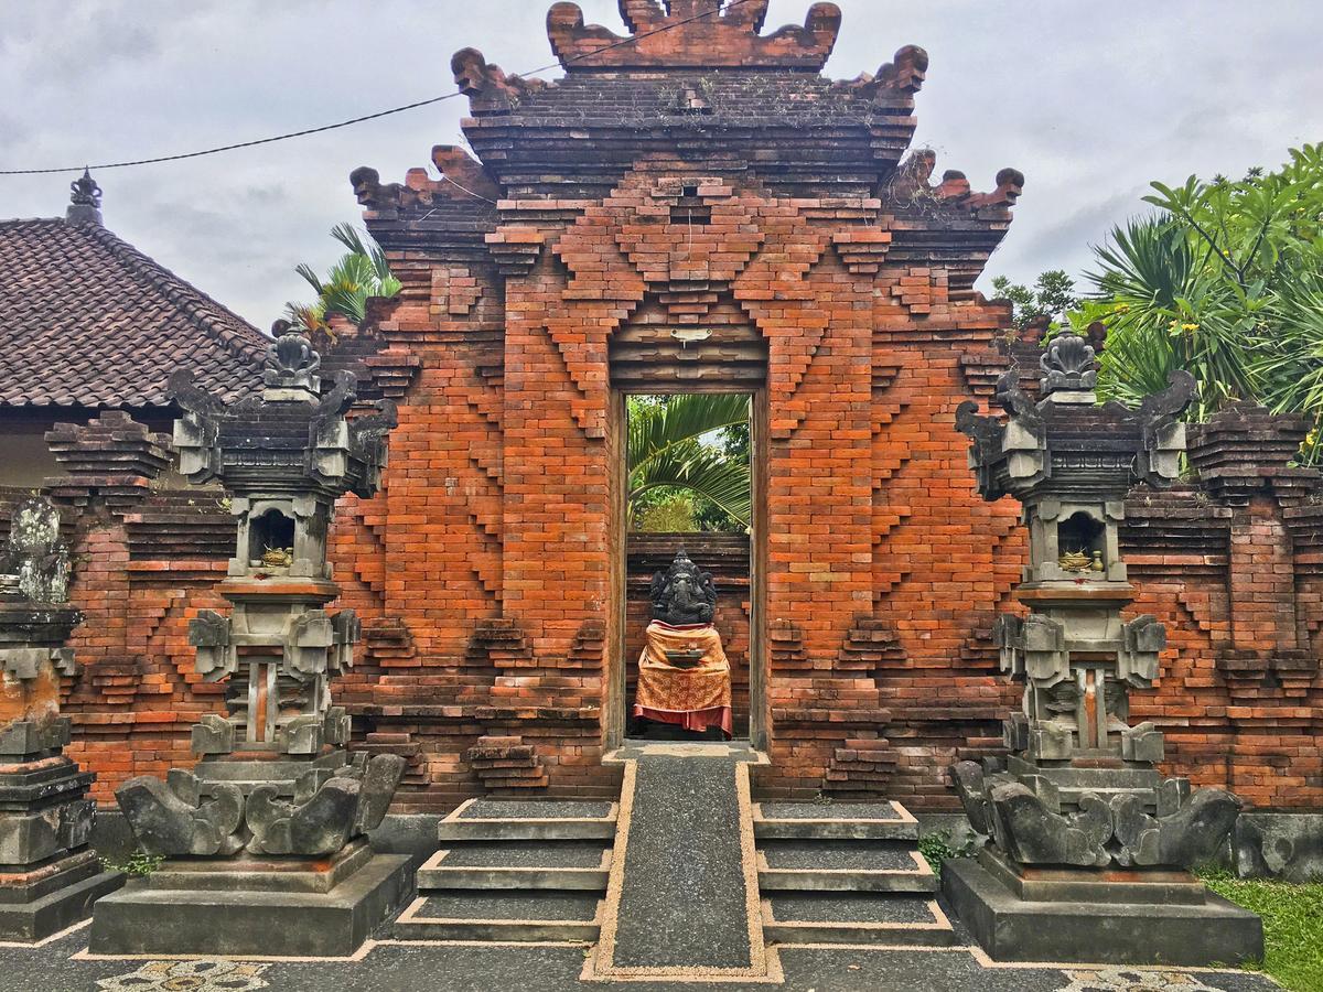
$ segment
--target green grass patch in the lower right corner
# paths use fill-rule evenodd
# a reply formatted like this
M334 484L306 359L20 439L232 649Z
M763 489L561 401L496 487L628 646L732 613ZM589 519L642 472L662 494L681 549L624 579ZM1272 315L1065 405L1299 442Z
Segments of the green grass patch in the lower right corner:
M1323 882L1290 885L1228 872L1200 876L1208 888L1263 918L1263 971L1291 992L1323 992Z

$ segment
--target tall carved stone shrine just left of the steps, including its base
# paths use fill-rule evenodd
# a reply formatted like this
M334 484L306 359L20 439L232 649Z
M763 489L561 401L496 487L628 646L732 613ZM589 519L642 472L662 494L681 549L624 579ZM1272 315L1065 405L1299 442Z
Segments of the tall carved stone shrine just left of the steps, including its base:
M226 716L193 727L196 768L118 790L163 864L97 905L98 952L347 955L409 888L407 858L366 840L405 762L345 750L329 681L353 663L359 620L324 608L339 595L325 557L335 501L376 491L394 407L347 418L353 374L323 392L308 341L274 331L259 397L226 406L187 372L172 380L181 471L218 480L237 518L218 587L233 610L189 627L197 672L226 684Z

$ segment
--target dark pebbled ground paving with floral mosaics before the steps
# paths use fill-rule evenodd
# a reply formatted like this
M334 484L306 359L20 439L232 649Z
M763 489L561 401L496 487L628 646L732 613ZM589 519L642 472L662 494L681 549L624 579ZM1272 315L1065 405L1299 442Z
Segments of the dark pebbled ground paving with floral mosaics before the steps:
M771 948L781 984L583 983L585 948L573 944L369 946L351 962L78 960L86 927L44 947L0 946L5 992L1273 992L1242 972L991 966L971 948Z

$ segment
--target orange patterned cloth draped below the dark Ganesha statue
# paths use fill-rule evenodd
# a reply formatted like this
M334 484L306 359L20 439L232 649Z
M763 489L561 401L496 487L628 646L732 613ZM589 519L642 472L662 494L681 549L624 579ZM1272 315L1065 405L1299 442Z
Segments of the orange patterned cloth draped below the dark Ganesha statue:
M721 635L710 624L672 627L654 620L639 656L639 685L634 716L660 723L676 723L701 733L720 726L734 733L730 716L730 663L721 648ZM701 651L692 668L667 660L668 651Z

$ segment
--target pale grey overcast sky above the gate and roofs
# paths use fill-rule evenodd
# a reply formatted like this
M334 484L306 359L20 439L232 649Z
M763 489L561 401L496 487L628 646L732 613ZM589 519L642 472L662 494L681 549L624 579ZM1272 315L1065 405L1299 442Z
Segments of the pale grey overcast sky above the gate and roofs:
M507 71L550 58L552 0L0 0L0 169L148 157L314 127L454 91L474 45ZM1240 176L1323 140L1319 0L837 0L827 66L931 56L916 147L976 189L1028 177L990 274L1089 267L1150 180ZM623 33L615 0L581 0ZM810 0L773 0L769 29ZM556 73L550 74L556 75ZM459 142L454 99L263 148L105 171L106 224L259 327L306 296L348 175L382 181ZM73 176L0 176L0 217L64 213ZM0 274L0 279L4 275Z

